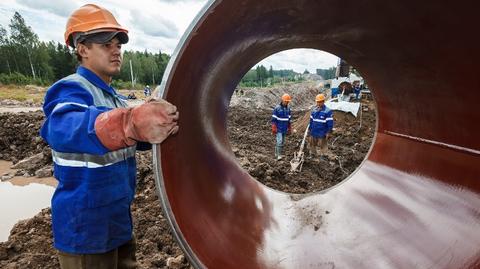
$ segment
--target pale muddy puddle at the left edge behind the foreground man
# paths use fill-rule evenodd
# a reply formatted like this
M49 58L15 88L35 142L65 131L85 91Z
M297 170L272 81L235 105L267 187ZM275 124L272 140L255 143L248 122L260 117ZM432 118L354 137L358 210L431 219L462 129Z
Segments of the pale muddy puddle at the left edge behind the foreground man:
M0 161L0 176L10 173L12 163ZM0 242L7 241L19 220L35 216L50 206L57 181L55 178L14 177L0 182Z

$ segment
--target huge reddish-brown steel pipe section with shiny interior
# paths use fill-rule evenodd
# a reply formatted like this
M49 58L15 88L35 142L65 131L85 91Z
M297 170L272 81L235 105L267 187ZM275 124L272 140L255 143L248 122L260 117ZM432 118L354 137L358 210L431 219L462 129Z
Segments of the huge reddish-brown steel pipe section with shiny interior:
M161 201L191 263L480 268L476 7L462 0L208 2L162 83L162 96L180 111L180 132L154 149ZM378 108L367 159L341 184L309 195L252 179L226 132L242 76L291 48L345 59L367 79Z

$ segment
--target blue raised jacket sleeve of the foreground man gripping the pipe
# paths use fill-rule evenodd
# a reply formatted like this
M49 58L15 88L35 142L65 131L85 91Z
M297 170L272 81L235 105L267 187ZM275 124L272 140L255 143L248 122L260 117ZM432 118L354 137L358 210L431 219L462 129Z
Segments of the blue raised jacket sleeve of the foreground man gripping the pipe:
M95 134L97 116L110 110L96 107L86 89L73 81L54 84L45 96L46 121L40 135L59 152L102 155L109 150Z

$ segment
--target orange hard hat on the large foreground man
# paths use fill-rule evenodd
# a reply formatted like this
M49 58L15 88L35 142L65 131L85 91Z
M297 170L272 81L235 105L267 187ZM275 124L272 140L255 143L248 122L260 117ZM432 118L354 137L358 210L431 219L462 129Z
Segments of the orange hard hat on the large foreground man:
M110 11L93 4L84 5L75 10L68 18L65 43L74 47L73 34L104 32L102 29L105 32L124 33L128 41L128 30L118 24Z

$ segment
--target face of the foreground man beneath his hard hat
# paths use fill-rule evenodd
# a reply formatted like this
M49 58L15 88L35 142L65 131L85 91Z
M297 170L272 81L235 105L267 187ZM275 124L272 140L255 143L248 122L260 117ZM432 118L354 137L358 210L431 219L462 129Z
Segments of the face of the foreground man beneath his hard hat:
M111 77L120 73L122 66L122 44L117 38L108 43L90 46L79 46L79 53L82 56L82 65L92 70L104 81L109 82Z

